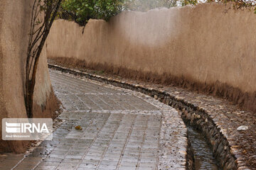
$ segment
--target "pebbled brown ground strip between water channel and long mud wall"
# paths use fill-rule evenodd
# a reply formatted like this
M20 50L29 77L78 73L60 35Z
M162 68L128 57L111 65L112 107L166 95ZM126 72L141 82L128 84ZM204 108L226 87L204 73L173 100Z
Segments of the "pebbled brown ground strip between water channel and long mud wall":
M54 67L53 67L54 68ZM65 67L64 67L65 68ZM77 70L78 71L78 70ZM113 74L102 74L94 70L81 69L85 74L96 76L99 79L125 82L132 86L140 86L145 89L164 91L176 101L183 101L187 106L194 106L205 111L228 140L231 153L235 156L238 170L256 169L256 114L245 111L237 105L233 105L225 98L218 98L195 91L189 91L174 86L164 86L139 80L126 79ZM241 125L248 127L245 131L238 131Z

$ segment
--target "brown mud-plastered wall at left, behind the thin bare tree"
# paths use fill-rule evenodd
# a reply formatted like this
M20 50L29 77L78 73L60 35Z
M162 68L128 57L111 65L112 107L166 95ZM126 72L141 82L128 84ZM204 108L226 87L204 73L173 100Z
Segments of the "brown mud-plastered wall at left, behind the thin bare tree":
M32 3L33 0L1 0L0 120L27 118L23 91ZM42 52L36 75L34 100L33 117L50 118L57 105L49 79L46 49ZM24 141L0 140L0 152L23 152L27 144Z

